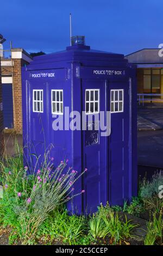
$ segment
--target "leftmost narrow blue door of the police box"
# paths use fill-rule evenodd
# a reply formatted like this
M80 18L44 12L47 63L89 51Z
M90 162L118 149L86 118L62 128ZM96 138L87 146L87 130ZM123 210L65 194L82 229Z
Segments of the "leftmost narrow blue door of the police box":
M45 81L32 81L30 82L30 122L29 122L29 135L30 135L30 160L32 164L36 163L37 157L39 161L37 167L45 161L45 151L47 150L47 98L46 98Z

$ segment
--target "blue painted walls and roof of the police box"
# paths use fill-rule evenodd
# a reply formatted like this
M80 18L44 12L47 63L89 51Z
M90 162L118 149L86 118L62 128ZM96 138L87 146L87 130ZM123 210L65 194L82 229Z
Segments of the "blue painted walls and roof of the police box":
M121 70L122 75L110 76L107 70ZM41 75L51 72L55 72L55 77ZM40 77L34 78L34 74ZM22 69L24 145L32 143L35 149L30 153L43 157L45 147L53 144L54 166L69 159L70 166L78 172L87 168L75 185L76 193L86 191L73 200L77 214L96 211L100 203L106 204L108 200L112 205L122 205L124 200L131 200L137 194L135 77L135 67L128 64L122 54L79 45L35 57ZM105 112L110 111L110 90L124 89L124 112L111 114L111 135L102 137L99 133L99 143L95 145L85 143L89 138L87 131L52 129L51 90L63 89L64 107L70 107L70 112L82 112L85 111L85 89L91 88L100 89L100 109ZM32 111L33 89L43 89L43 113ZM32 157L27 149L24 154L28 160Z

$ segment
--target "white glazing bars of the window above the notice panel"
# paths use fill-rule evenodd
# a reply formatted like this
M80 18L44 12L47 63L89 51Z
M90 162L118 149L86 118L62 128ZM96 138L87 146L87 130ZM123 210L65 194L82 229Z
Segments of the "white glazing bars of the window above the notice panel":
M95 100L95 91L98 92L98 100ZM86 92L89 92L89 100L86 100ZM93 100L91 100L91 92L93 92ZM86 89L85 90L85 114L99 114L99 98L100 98L100 89ZM95 112L95 103L98 103L98 112ZM89 112L86 112L86 103L89 103ZM91 103L93 103L93 112L90 112Z

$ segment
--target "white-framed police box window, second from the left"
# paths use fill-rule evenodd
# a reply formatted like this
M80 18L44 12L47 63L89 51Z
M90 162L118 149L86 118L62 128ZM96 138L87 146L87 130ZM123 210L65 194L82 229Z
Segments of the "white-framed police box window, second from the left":
M63 90L52 90L52 114L64 113Z

